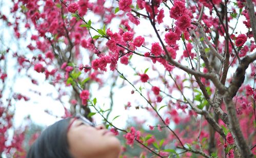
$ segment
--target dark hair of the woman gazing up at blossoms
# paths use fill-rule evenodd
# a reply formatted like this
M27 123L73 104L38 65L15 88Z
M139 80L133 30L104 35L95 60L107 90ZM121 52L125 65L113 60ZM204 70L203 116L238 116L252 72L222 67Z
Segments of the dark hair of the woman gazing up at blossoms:
M27 158L72 158L67 140L70 119L47 127L29 149Z

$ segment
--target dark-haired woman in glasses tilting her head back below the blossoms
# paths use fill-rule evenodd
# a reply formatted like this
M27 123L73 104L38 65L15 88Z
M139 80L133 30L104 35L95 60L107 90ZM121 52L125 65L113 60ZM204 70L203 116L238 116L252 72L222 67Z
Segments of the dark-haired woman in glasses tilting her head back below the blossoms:
M27 158L116 158L120 149L120 141L103 125L95 126L85 117L75 116L45 129Z

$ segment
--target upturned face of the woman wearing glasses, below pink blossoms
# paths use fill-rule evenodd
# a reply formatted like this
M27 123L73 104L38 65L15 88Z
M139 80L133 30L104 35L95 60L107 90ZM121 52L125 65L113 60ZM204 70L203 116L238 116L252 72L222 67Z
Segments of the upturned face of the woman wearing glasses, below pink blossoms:
M73 119L67 137L74 158L118 157L121 144L112 132L103 125L92 127L80 118Z

